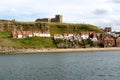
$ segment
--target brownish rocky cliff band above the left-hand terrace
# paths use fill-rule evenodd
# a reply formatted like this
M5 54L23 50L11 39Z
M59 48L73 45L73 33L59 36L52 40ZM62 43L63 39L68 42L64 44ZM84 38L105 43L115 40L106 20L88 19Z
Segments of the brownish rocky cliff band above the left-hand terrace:
M14 30L42 30L49 29L49 25L45 23L29 23L29 22L16 22L16 21L0 21L0 31L14 31Z

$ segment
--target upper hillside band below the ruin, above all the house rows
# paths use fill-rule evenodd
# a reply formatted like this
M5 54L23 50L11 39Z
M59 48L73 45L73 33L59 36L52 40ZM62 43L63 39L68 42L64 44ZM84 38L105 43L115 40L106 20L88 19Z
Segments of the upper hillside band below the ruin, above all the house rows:
M101 32L101 30L94 25L91 24L70 24L70 23L43 23L43 22L16 22L16 21L7 21L0 20L0 29L3 31L12 31L16 30L47 30L50 29L51 34L55 33L78 33L83 31L95 31Z

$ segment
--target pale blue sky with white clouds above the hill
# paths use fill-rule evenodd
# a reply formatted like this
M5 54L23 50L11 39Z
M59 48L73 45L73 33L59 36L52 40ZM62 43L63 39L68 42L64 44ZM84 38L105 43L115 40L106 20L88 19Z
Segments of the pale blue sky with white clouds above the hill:
M0 19L35 21L63 15L64 23L85 23L120 31L120 0L0 0Z

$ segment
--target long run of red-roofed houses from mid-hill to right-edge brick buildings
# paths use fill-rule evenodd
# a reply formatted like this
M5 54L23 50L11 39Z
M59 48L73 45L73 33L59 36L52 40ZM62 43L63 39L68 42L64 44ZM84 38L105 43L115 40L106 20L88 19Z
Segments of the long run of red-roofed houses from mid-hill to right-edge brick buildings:
M81 32L79 34L71 34L71 33L64 33L64 34L55 34L54 39L63 39L63 40L79 40L82 39L91 39L93 42L100 42L104 45L104 47L112 47L120 46L120 37L113 37L108 33L95 33L95 32Z

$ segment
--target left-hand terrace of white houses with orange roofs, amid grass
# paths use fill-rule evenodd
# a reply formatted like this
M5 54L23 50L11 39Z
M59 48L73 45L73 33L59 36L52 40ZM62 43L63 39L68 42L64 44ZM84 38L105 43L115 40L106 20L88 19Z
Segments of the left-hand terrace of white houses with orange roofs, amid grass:
M28 38L28 37L51 37L49 31L12 31L13 38Z

